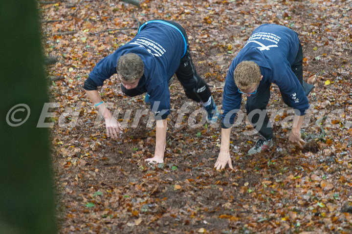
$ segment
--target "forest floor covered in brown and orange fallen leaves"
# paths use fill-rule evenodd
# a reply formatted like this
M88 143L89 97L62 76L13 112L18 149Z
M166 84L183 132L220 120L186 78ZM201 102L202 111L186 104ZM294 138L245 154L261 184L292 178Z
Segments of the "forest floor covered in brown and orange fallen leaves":
M352 233L351 0L145 0L141 8L63 0L39 6L45 55L59 60L47 73L56 103L49 121L60 233ZM258 135L246 121L243 96L231 135L234 170L215 170L220 122L205 124L202 107L191 105L176 79L164 164L145 164L155 147L150 107L143 96L124 96L115 76L100 92L125 128L118 139L108 138L84 80L133 38L140 23L153 19L186 29L197 72L219 106L228 67L256 27L277 23L298 32L304 79L315 85L302 128L305 148L288 143L293 114L272 85L267 109L274 149L247 156ZM127 29L104 31L118 28ZM189 111L177 121L185 104Z

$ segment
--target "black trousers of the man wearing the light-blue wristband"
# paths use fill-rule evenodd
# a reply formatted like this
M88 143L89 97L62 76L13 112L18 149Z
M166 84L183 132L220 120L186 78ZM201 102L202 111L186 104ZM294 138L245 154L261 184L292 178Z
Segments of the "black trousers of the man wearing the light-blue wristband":
M207 102L209 100L209 97L211 96L211 92L208 85L197 74L196 68L192 62L186 30L176 22L173 22L173 21L165 21L165 22L168 22L176 26L182 32L187 43L186 53L181 58L180 64L175 72L177 79L183 86L183 89L188 98L196 102L200 102L200 101ZM130 97L134 97L143 93L135 89L126 89L123 85L121 85L121 89L122 89L122 92L124 92L126 95Z

